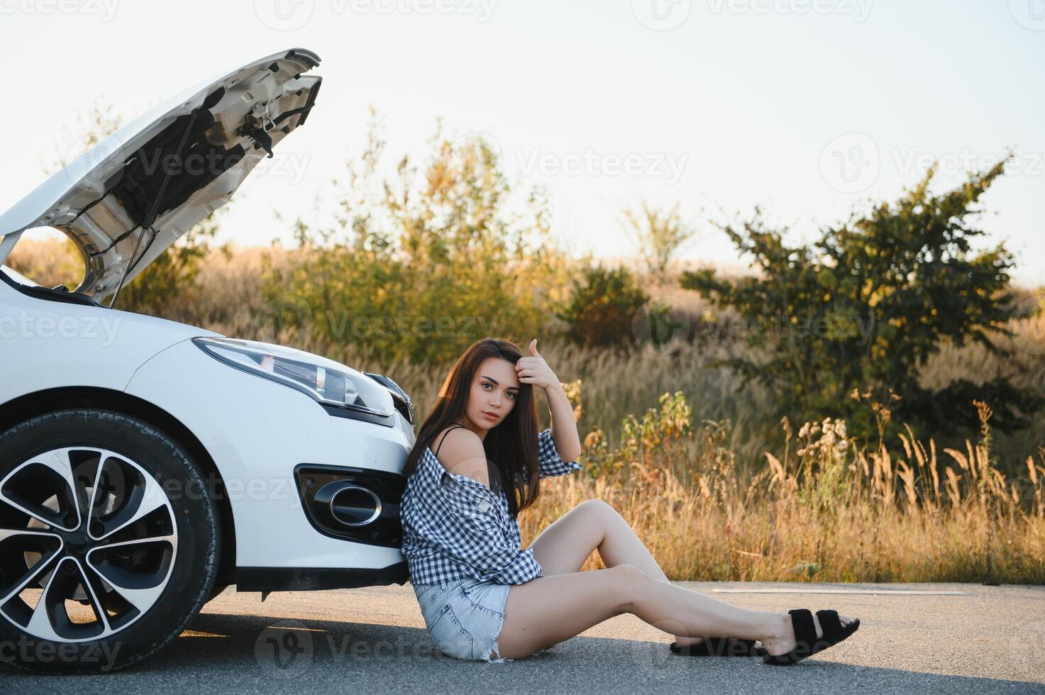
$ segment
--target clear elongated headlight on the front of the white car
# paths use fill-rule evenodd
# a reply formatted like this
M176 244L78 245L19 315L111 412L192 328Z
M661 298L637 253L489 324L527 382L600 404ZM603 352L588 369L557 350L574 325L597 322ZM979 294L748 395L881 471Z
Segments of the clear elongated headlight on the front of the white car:
M245 372L297 389L326 406L389 417L392 394L369 376L318 354L231 338L194 338L210 356Z

